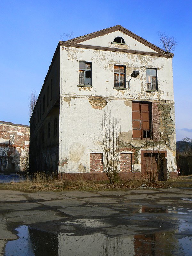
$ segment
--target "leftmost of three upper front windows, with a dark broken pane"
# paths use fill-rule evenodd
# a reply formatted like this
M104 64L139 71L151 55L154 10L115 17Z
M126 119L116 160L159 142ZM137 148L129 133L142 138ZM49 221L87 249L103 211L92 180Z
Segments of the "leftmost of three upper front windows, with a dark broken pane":
M91 84L91 63L79 62L79 85Z

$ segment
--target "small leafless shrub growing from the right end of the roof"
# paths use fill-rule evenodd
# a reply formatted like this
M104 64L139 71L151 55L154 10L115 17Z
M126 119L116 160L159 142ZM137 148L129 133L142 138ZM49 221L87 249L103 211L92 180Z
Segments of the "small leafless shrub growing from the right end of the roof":
M174 51L178 42L175 40L173 36L168 36L165 33L158 32L159 34L159 44L161 48L166 52L169 53Z

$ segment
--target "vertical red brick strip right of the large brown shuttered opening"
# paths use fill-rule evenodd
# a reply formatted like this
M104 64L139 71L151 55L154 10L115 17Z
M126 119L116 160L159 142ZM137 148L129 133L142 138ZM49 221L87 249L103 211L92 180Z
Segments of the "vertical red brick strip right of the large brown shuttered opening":
M158 105L159 103L152 102L152 133L154 141L158 141L160 139L160 113Z

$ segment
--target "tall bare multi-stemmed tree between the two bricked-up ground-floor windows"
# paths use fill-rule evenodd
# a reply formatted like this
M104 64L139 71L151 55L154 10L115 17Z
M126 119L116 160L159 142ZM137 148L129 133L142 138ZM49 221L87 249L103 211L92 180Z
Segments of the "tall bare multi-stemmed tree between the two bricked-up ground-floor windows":
M111 116L111 112L104 112L99 127L99 135L93 140L95 145L104 151L106 173L109 182L113 185L118 180L120 171L120 134L121 123L116 117Z

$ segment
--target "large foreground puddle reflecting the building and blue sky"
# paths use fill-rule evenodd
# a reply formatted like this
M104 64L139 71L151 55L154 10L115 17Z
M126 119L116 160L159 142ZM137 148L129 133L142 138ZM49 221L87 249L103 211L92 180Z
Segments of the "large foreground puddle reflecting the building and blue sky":
M191 237L178 239L174 231L109 237L101 233L55 235L27 226L16 230L19 239L7 243L5 256L191 255Z

